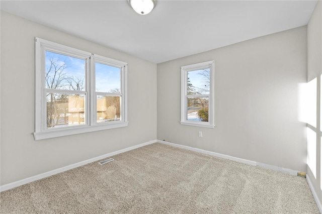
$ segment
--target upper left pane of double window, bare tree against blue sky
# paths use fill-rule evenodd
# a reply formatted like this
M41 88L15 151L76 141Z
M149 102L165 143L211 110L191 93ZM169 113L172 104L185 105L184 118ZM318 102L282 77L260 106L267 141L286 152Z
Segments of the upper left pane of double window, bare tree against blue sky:
M85 90L85 60L46 51L46 88Z

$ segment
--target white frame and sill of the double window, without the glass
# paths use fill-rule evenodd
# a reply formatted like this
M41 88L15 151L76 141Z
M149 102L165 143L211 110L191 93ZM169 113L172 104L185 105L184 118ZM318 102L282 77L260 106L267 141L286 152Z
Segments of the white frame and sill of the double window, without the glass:
M63 55L85 60L85 90L61 90L45 87L45 52L51 51ZM120 68L120 93L121 96L120 121L97 123L96 121L96 91L95 91L95 62ZM55 127L48 129L46 126L46 92L63 92L85 94L86 124L77 126ZM110 95L110 93L109 93ZM60 45L41 38L35 38L35 140L75 135L100 130L126 127L127 121L127 63L96 55L87 51L78 50L65 45Z

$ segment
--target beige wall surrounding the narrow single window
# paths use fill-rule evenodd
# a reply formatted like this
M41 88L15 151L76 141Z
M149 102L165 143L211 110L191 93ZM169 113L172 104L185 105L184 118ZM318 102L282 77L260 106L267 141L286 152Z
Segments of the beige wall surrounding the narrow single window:
M157 65L157 138L306 171L306 26ZM215 128L180 125L180 67L215 60ZM198 137L198 131L203 137Z

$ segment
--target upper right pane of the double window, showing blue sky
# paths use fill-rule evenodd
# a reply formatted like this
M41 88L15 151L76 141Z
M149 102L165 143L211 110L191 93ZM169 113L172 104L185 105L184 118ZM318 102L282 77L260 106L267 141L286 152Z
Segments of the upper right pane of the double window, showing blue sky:
M120 72L120 68L95 63L96 91L120 93Z

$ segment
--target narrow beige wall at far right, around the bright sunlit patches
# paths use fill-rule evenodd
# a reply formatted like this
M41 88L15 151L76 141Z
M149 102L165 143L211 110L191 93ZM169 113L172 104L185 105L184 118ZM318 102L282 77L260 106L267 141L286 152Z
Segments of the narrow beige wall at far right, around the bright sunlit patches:
M309 167L307 173L312 181L314 191L322 201L321 187L321 126L320 126L320 75L322 74L322 2L318 1L307 25L307 81L316 78L316 126L310 127L316 134L316 178ZM320 202L320 205L322 202Z

